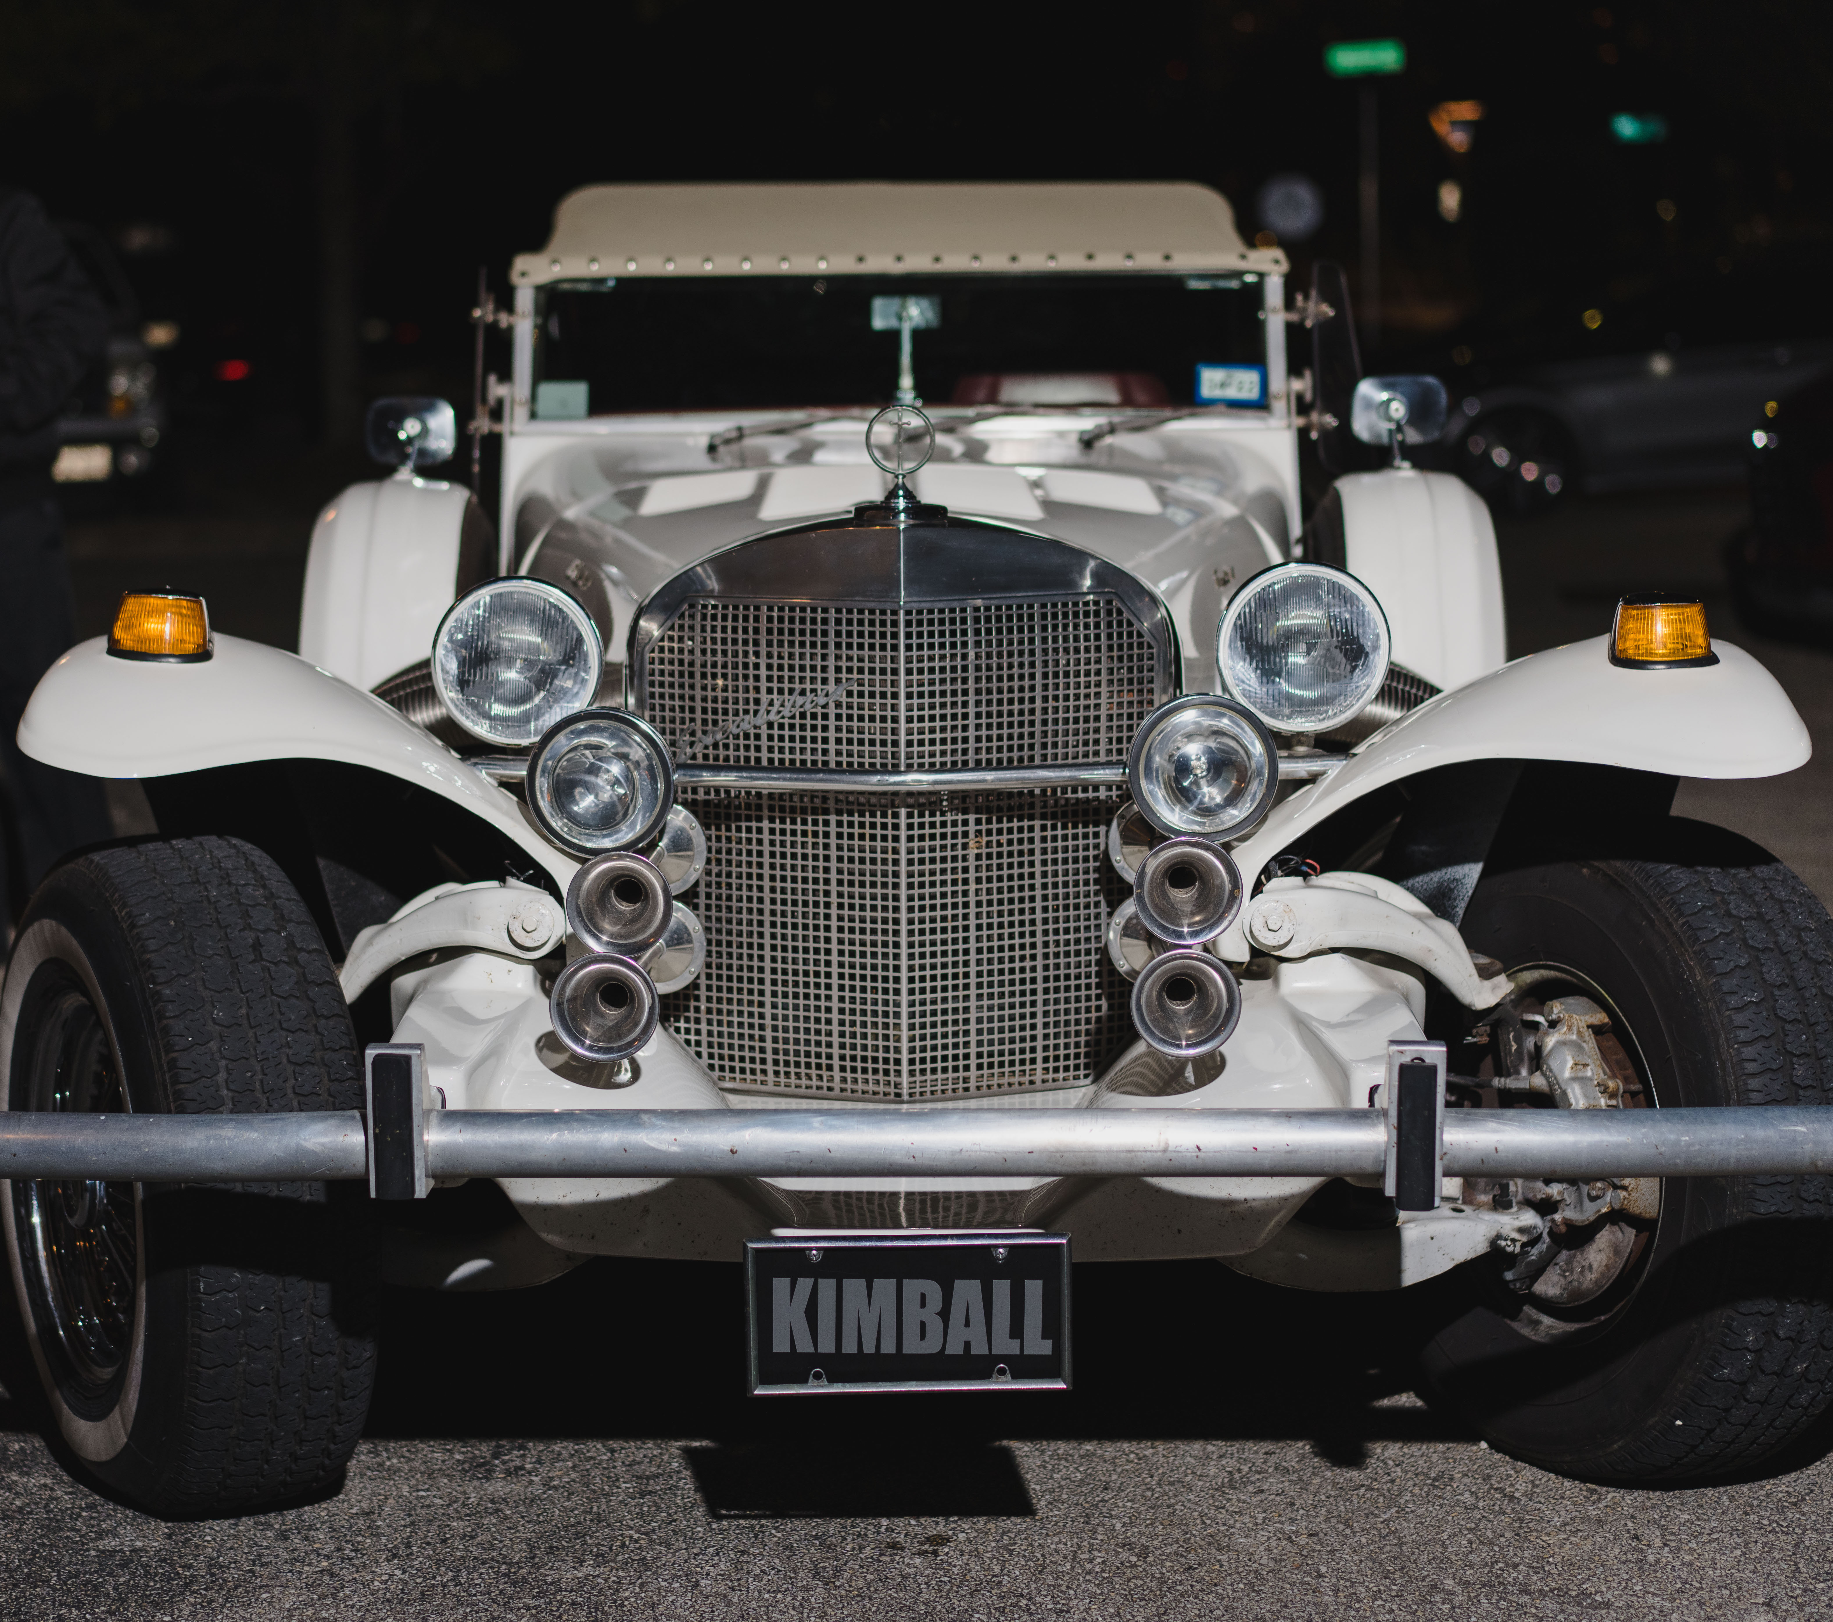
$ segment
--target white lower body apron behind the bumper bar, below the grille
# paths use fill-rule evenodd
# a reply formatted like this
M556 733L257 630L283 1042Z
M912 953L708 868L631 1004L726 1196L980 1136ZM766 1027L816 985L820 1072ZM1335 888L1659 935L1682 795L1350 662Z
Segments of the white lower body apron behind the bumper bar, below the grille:
M698 1059L658 1030L627 1083L610 1067L566 1054L548 1021L533 964L471 951L392 982L394 1039L425 1047L427 1081L447 1109L768 1109L799 1098L722 1090ZM1345 1109L1382 1080L1388 1041L1417 1039L1422 982L1344 955L1279 964L1243 984L1241 1026L1219 1074L1171 1096L1127 1094L1127 1072L1153 1063L1144 1043L1092 1087L1012 1100L1083 1109ZM949 1100L960 1109L962 1100ZM986 1100L999 1107L1006 1100ZM909 1109L920 1105L871 1105ZM946 1191L1028 1195L1032 1221L1074 1235L1085 1261L1241 1255L1265 1244L1318 1188L1318 1178L964 1178ZM911 1184L915 1188L916 1184ZM933 1180L920 1184L938 1191ZM896 1191L891 1178L786 1178L748 1195L697 1178L504 1178L522 1219L574 1254L726 1261L748 1237L788 1221L797 1195Z

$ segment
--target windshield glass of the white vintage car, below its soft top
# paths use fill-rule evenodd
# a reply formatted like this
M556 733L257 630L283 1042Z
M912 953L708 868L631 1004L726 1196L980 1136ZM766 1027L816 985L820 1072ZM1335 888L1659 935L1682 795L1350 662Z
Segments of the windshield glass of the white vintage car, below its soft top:
M643 277L541 290L535 416L889 401L906 299L931 405L1267 403L1252 273Z

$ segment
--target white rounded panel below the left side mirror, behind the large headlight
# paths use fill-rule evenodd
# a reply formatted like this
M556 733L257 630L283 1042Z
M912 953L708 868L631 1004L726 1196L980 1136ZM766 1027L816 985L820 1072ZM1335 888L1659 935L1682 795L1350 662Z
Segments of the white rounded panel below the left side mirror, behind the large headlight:
M423 660L453 603L471 491L429 478L352 484L312 526L299 654L368 691Z

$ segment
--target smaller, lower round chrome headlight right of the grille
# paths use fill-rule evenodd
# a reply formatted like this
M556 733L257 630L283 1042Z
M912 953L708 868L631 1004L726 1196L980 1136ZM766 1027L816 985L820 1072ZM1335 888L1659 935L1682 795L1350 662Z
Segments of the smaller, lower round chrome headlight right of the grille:
M1232 698L1193 693L1146 717L1127 753L1127 788L1160 834L1245 834L1279 792L1274 742Z

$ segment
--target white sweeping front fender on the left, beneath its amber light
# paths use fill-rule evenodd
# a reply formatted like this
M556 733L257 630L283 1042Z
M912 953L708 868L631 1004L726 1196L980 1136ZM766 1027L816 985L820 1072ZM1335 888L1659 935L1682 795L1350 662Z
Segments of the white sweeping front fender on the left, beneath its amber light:
M38 682L18 746L88 777L169 777L247 761L343 761L414 783L489 823L561 889L577 861L521 803L370 693L277 647L218 636L213 658L165 665L81 641Z

